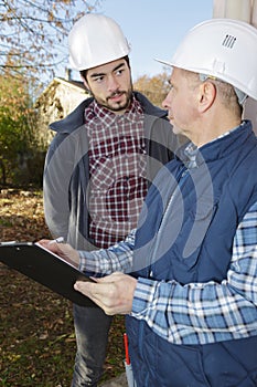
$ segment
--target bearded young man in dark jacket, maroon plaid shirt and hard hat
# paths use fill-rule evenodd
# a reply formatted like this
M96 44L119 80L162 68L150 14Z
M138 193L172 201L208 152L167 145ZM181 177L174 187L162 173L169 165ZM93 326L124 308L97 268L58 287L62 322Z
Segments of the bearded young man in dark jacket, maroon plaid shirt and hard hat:
M92 97L56 132L45 163L45 219L54 237L95 250L136 227L148 185L173 157L176 137L167 112L132 91L129 45L119 25L86 14L68 36L69 60ZM77 354L73 387L96 386L103 373L111 317L74 305Z

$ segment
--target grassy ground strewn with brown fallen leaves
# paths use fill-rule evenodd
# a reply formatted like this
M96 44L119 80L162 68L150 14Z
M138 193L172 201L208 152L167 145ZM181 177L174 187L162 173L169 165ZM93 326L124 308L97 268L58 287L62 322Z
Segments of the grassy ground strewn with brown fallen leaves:
M0 190L0 241L47 238L42 191ZM0 386L68 387L76 341L72 303L0 263ZM116 316L103 380L124 372L124 317Z

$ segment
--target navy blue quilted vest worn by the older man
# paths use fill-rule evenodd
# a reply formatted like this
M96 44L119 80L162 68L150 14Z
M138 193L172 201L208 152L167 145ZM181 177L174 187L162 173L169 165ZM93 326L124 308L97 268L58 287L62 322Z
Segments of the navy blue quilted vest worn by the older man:
M191 161L169 163L149 190L136 237L137 276L181 284L226 279L236 229L257 201L250 123L203 146L193 168ZM174 345L143 321L127 316L126 325L138 387L257 386L257 336Z

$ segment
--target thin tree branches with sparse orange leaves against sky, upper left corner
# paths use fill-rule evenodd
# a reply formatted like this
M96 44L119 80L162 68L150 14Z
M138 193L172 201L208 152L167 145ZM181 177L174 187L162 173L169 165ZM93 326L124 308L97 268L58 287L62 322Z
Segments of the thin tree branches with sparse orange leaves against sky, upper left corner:
M100 0L0 0L0 72L40 79L67 57L75 20ZM53 74L52 74L53 75Z

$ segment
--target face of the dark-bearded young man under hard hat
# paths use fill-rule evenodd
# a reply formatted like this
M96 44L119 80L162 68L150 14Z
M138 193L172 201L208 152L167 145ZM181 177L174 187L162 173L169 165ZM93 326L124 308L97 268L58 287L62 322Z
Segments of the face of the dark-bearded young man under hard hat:
M125 59L87 71L85 86L98 104L116 114L122 114L132 96L131 73Z

